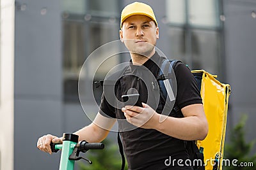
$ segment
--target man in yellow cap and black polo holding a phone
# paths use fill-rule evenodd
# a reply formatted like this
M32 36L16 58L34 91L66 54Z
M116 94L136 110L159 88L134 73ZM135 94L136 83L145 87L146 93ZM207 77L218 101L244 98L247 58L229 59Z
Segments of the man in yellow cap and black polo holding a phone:
M140 71L141 67L145 67L156 78L164 58L155 50L159 28L152 8L137 2L125 6L120 26L120 39L131 55L131 72L133 69ZM182 63L178 63L174 71L177 79L175 106L179 107L180 111L170 110L169 116L164 121L159 121L164 99L160 97L158 106L153 109L147 103L150 92L145 88L145 82L134 75L124 76L117 81L116 98L122 101L123 94L129 93L129 89L136 89L140 94L138 103L141 103L142 107L124 106L120 109L109 104L105 94L102 94L100 111L93 123L74 134L79 136L79 141L100 142L108 136L116 122L109 117L125 118L129 124L136 127L122 131L125 128L122 129L122 124L118 124L122 131L120 134L129 169L192 169L175 162L172 166L164 164L169 157L173 160L189 159L184 141L202 140L208 132L202 99L193 75ZM51 154L51 141L62 142L61 138L48 134L38 139L37 147Z

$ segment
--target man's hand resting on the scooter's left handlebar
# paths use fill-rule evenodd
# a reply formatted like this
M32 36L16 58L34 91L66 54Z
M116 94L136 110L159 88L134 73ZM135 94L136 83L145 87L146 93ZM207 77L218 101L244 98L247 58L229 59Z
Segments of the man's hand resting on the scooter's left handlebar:
M37 148L43 152L52 154L51 146L52 143L62 143L62 138L58 138L57 136L53 136L51 134L47 134L42 136L37 141Z

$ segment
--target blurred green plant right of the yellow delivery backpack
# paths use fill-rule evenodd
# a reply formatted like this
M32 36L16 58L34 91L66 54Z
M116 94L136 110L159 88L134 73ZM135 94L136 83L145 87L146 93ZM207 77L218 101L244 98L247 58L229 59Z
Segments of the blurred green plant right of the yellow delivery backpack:
M230 143L225 145L224 159L230 160L230 166L223 165L225 170L252 170L256 166L256 154L250 156L250 152L255 144L255 140L246 143L244 139L245 130L244 125L246 124L247 116L243 115L239 123L230 132ZM238 160L237 166L232 165L232 160ZM239 166L241 162L252 162L251 166Z

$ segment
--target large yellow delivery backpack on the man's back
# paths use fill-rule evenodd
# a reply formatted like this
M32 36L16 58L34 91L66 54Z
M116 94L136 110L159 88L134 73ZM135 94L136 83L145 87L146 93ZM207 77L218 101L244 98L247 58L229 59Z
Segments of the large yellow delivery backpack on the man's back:
M205 170L222 170L230 85L220 83L216 80L216 75L204 70L191 72L199 84L209 124L207 137L196 144L200 152L204 153Z

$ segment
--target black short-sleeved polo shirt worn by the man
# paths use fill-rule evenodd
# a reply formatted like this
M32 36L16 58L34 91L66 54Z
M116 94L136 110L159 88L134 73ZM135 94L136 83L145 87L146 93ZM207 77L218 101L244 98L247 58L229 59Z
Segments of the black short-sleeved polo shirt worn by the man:
M143 66L134 66L130 64L130 72L122 76L115 84L116 99L122 101L122 95L127 94L129 89L135 90L140 94L138 103L147 103L154 105L154 97L152 94L152 86L148 83L156 80L159 73L159 66L164 57L160 57L156 52L150 59L143 64ZM147 73L150 71L150 73ZM196 85L195 78L191 71L182 63L177 63L174 68L177 80L177 96L175 97L175 105L180 109L190 104L202 104L200 91ZM159 99L159 103L153 108L157 113L161 113L164 106L164 99ZM150 105L151 106L151 105ZM109 104L104 94L100 103L100 114L108 115L109 117L118 118L118 127L121 131L122 143L124 152L127 157L129 169L185 169L185 167L170 167L164 164L164 161L170 157L172 159L188 159L189 155L184 147L184 141L167 136L154 129L143 129L134 127L129 124L124 117L124 113L119 108ZM181 112L179 114L182 114ZM170 111L172 117L180 117L175 111ZM126 122L126 123L125 123ZM127 128L127 125L130 127ZM125 131L125 128L127 128ZM176 165L177 166L177 165ZM187 167L189 169L189 167Z

